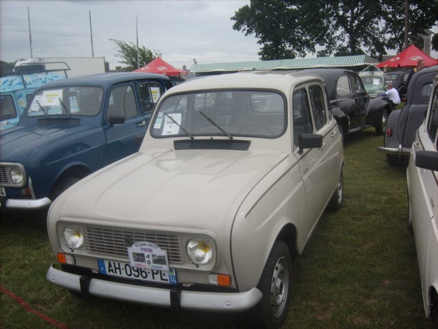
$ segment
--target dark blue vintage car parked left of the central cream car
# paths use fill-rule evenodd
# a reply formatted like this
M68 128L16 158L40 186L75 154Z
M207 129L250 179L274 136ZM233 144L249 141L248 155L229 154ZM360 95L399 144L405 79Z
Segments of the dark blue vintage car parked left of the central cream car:
M104 73L38 88L0 132L0 208L40 209L86 175L138 151L168 77Z

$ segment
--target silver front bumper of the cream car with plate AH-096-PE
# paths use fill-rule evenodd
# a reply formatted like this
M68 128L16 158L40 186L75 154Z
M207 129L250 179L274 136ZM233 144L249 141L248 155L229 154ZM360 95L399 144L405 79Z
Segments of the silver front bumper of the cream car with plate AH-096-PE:
M242 293L218 293L123 284L68 273L55 269L53 265L47 271L46 278L53 284L77 291L83 296L93 295L136 304L209 312L242 312L253 308L262 297L257 288Z

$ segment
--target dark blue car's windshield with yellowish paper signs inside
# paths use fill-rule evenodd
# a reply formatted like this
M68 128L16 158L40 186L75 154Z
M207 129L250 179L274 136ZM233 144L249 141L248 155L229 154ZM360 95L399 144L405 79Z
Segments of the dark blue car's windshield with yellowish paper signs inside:
M97 87L74 86L40 90L27 108L27 117L92 117L101 111L102 98L103 90Z

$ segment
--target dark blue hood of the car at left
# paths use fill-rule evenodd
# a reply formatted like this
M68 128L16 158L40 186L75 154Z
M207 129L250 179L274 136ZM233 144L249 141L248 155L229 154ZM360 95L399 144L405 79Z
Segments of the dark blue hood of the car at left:
M36 152L50 147L54 141L79 134L93 127L84 125L27 125L17 126L0 133L0 160L23 162L30 160Z

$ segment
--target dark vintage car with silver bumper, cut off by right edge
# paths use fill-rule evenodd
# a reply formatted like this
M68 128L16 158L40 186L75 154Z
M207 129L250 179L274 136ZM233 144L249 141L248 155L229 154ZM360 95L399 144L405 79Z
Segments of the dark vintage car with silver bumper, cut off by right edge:
M438 66L415 73L409 82L404 107L389 115L383 147L378 147L378 151L386 153L390 166L407 164L415 132L424 121L436 75L438 75Z

